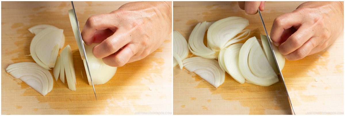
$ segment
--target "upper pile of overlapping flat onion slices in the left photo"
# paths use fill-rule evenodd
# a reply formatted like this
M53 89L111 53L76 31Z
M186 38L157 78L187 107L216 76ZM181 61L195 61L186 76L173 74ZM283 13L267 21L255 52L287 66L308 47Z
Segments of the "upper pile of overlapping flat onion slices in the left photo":
M30 44L30 54L35 62L50 70L55 66L59 49L65 43L63 30L52 25L37 25L29 28L36 34Z

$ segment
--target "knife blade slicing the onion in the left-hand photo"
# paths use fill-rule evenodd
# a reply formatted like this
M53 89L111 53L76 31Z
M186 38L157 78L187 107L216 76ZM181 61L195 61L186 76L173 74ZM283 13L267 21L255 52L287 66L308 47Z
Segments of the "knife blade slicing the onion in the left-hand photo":
M96 91L95 91L95 86L93 85L93 82L92 82L92 78L91 78L91 73L90 73L90 68L89 68L89 63L88 63L88 60L87 60L87 57L86 57L86 52L85 52L85 47L84 47L84 44L83 44L83 40L81 38L81 34L80 34L80 30L79 30L79 24L78 24L78 20L77 20L77 15L76 15L76 11L74 9L74 5L73 5L73 1L71 1L71 4L72 4L72 10L73 10L73 14L74 14L74 19L76 21L76 25L77 25L77 30L78 30L78 35L75 34L75 37L76 37L76 41L78 43L78 41L80 41L81 44L78 44L78 48L79 50L82 50L82 53L80 51L80 54L81 54L81 58L85 59L85 62L86 62L86 65L87 65L87 70L89 72L89 76L90 76L90 80L91 80L91 83L92 83L92 88L93 88L93 93L95 93L95 97L96 97L96 101L97 101L97 96L96 96ZM72 26L73 27L73 26ZM75 30L75 29L73 29ZM73 31L74 33L75 31Z

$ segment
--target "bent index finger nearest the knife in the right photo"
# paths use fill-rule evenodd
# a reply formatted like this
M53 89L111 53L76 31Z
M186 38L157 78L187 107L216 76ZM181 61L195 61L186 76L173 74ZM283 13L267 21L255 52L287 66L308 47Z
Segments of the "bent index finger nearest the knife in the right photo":
M275 46L279 46L283 42L281 37L284 30L287 30L293 26L299 26L301 22L300 19L301 18L298 18L298 16L296 16L293 12L280 15L274 19L270 33L273 44Z

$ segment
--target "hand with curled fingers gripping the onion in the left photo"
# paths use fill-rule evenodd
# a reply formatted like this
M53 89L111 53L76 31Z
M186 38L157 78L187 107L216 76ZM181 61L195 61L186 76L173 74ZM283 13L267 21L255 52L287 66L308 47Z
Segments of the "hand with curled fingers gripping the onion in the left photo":
M171 33L171 2L131 2L111 13L91 16L82 29L96 58L112 67L145 58Z

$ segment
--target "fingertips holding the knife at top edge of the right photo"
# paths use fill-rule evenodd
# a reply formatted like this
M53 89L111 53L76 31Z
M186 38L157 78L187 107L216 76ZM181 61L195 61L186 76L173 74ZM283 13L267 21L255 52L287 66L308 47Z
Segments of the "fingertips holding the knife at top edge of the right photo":
M265 1L238 1L238 6L247 14L256 14L258 9L264 11Z

